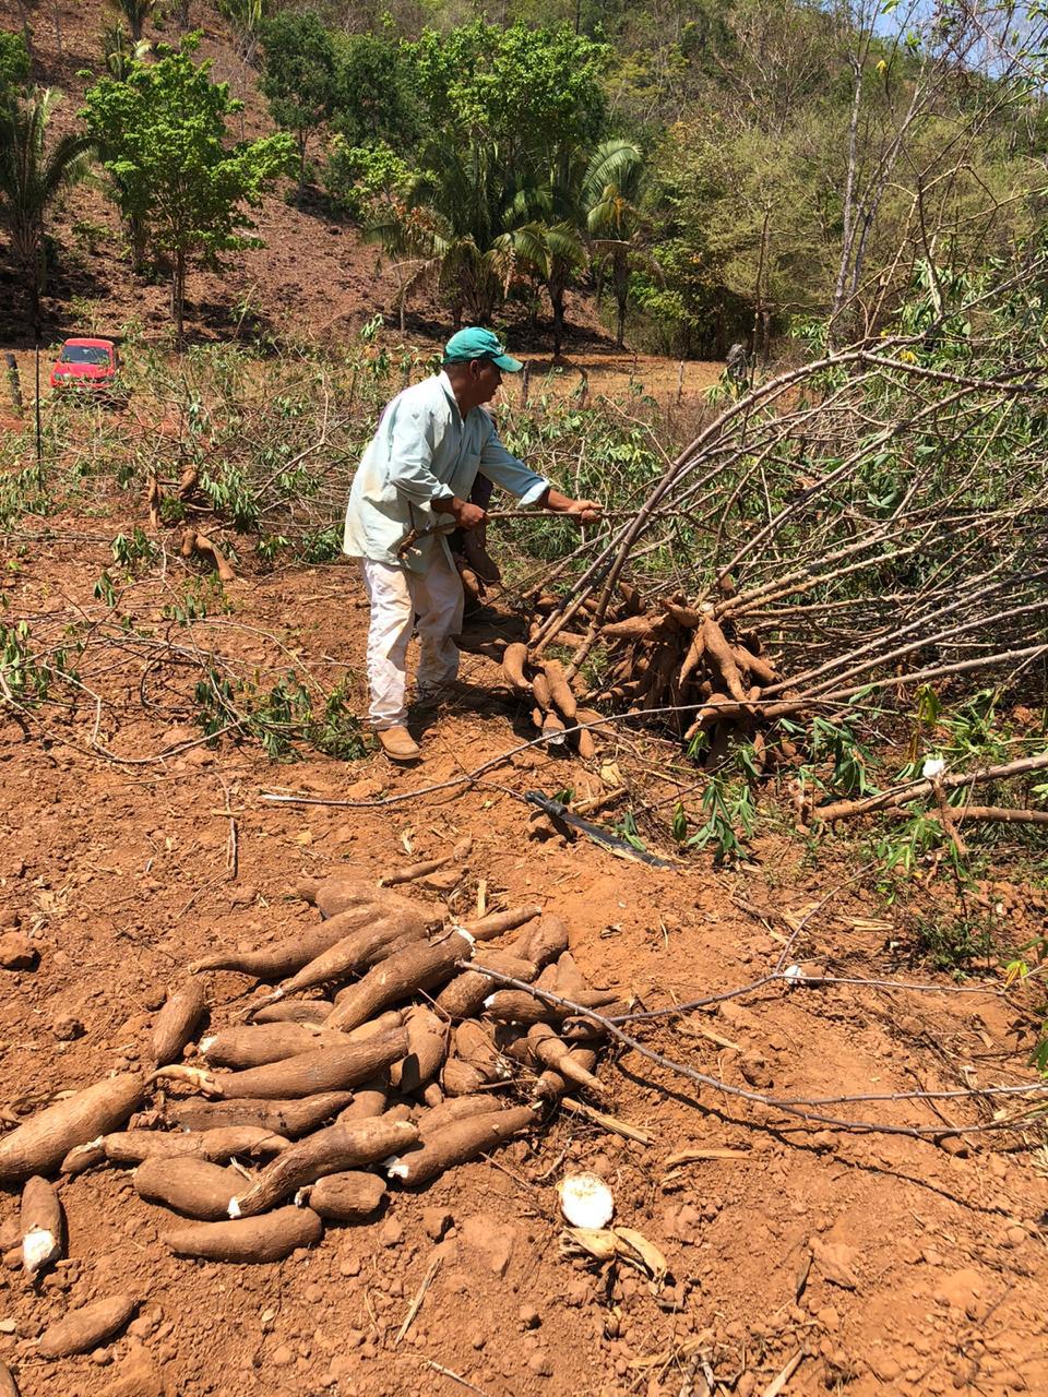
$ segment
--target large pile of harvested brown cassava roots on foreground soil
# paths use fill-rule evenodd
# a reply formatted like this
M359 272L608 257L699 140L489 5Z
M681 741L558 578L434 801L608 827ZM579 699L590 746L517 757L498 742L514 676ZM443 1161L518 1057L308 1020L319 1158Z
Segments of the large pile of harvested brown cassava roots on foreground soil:
M374 1217L390 1185L422 1187L534 1130L567 1092L601 1095L599 1024L485 974L611 1004L583 979L559 918L523 907L458 926L347 877L299 893L316 926L189 967L155 1021L155 1071L108 1077L0 1140L0 1183L24 1185L29 1273L63 1256L48 1176L130 1166L137 1193L170 1210L159 1232L176 1256L277 1261L326 1224ZM219 971L263 982L228 1027L208 1024L205 975ZM101 1343L130 1317L113 1303L124 1299L99 1302L98 1324L74 1312L73 1337L49 1330L41 1352Z

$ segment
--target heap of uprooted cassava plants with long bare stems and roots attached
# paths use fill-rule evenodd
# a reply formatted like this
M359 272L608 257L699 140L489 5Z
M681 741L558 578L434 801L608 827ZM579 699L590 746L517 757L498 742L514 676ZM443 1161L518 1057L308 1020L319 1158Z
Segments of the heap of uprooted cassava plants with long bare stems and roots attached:
M552 645L595 701L714 754L739 735L757 764L796 754L781 719L865 707L880 738L893 711L912 729L919 693L1038 707L1048 419L1042 370L1009 352L1014 314L981 293L949 365L938 341L885 335L727 405L625 522L524 588L514 666L539 708Z

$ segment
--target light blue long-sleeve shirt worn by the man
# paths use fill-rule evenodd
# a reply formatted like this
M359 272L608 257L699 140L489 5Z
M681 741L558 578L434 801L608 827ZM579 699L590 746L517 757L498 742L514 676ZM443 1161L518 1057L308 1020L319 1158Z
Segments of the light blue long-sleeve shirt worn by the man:
M387 405L356 468L342 550L425 571L454 528L449 514L433 511L433 500L468 499L479 472L524 506L549 489L506 450L489 412L472 408L463 418L446 373L405 388ZM412 529L433 532L401 557L397 550Z

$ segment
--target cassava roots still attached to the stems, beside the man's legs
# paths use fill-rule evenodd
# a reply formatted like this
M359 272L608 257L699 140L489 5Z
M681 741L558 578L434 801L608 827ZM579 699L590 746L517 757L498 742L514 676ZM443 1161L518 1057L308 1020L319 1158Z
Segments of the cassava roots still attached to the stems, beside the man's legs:
M729 599L727 580L721 590ZM560 629L552 622L559 599L539 597L534 609L546 620L532 624L531 638L541 647L551 641L583 648L599 643L608 658L605 679L591 692L592 698L632 712L674 710L665 714L665 721L675 722L689 742L704 733L713 746L714 729L725 736L742 732L753 738L760 757L763 738L756 731L760 711L755 705L760 703L762 690L778 676L762 654L757 633L739 630L724 613L725 604L689 606L683 597L672 597L648 609L630 583L619 583L618 592L619 601L608 606L590 637ZM587 598L576 619L591 623L595 612L597 598ZM562 665L541 659L530 664L530 654L523 643L509 645L503 671L511 687L531 689L537 703L532 717L544 732L551 731L548 725L556 722L558 714L574 722L598 718L577 707ZM531 680L525 678L528 668ZM592 739L584 729L578 731L577 743L580 756L592 754Z

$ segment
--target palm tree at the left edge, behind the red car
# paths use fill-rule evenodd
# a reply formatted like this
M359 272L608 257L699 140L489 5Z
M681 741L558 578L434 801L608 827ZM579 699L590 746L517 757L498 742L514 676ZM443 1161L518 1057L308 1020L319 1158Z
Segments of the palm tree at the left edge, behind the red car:
M0 112L0 224L32 291L34 319L45 284L45 219L61 190L82 179L94 144L67 133L48 149L48 120L57 94L38 89Z

